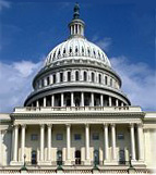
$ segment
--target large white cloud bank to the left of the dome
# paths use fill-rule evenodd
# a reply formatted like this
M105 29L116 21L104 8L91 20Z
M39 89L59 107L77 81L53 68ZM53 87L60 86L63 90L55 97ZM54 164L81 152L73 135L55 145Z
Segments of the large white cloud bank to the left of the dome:
M32 91L33 77L41 65L43 61L0 62L0 112L11 112L14 107L23 105Z

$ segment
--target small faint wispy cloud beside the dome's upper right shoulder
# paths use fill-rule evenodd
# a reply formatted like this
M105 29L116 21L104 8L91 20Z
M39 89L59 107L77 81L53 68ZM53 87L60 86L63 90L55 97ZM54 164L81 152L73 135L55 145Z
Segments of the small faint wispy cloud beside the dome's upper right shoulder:
M92 39L97 46L99 46L99 48L101 48L104 51L108 51L111 43L112 43L112 39L109 37L105 37L103 39L98 39L97 36L94 36Z

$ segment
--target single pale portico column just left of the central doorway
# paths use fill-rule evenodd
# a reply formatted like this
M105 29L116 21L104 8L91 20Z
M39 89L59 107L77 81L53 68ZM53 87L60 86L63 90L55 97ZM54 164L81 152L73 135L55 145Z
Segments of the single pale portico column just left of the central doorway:
M71 164L71 125L67 124L67 162Z

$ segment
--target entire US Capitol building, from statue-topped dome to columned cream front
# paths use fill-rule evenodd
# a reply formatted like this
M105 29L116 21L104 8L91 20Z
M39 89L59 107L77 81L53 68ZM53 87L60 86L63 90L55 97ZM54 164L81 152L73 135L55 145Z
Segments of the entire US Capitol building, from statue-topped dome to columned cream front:
M0 173L156 171L156 112L131 105L84 28L75 4L70 36L47 55L24 107L0 114Z

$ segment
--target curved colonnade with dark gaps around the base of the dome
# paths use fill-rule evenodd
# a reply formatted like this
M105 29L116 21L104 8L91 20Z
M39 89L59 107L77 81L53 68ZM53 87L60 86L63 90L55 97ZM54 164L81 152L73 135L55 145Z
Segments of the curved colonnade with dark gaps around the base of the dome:
M79 96L76 95L79 93ZM67 98L65 95L69 95ZM89 96L88 96L89 95ZM56 98L57 96L57 98ZM43 104L39 104L39 101L43 100ZM60 101L60 103L59 103ZM70 101L70 103L69 103ZM87 101L87 104L86 104ZM121 100L113 98L111 96L105 96L99 93L87 92L62 92L56 93L51 96L44 97L43 99L38 99L36 102L32 103L32 107L123 107L124 102Z

